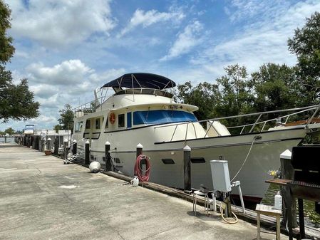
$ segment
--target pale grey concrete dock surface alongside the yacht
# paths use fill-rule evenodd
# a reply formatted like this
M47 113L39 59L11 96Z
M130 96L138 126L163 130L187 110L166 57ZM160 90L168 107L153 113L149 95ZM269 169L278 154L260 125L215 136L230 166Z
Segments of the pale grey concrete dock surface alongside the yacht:
M257 226L11 143L0 144L0 239L243 240Z

